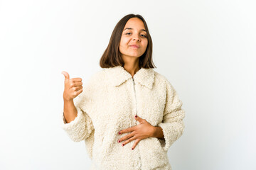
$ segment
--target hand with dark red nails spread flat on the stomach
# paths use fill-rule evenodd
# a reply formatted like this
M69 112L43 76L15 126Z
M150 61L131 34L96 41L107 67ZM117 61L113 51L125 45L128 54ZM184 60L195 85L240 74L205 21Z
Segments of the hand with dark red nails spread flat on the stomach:
M121 139L117 140L117 142L122 142L122 146L126 145L129 142L132 142L132 140L136 140L134 142L134 145L132 146L132 149L136 147L136 145L139 143L140 140L143 140L148 137L152 137L154 133L154 126L152 126L150 123L148 123L145 119L139 118L137 115L137 118L135 120L139 121L139 125L133 126L132 128L127 128L124 130L121 130L118 132L119 135L127 132L131 132L128 135L125 135Z

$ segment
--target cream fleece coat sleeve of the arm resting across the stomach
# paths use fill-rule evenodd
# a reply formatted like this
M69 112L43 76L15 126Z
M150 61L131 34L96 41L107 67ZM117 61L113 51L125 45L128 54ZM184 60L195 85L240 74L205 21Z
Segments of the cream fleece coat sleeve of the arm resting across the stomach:
M179 100L176 90L169 81L166 81L166 105L163 120L156 125L163 130L164 139L158 139L166 152L183 134L185 111L181 108L182 105L183 103Z

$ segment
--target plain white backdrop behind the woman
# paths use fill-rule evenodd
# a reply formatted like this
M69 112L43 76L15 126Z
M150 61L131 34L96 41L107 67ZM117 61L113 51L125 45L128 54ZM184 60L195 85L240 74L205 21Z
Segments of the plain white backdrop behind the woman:
M116 23L142 15L156 72L178 92L174 170L256 169L255 1L0 1L0 169L89 169L60 128L64 76L85 83Z

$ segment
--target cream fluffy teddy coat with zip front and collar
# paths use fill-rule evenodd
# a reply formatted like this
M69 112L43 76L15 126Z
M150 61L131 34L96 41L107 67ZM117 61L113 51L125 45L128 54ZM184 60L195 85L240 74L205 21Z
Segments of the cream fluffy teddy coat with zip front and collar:
M152 170L169 169L167 151L183 134L185 111L174 87L153 69L139 69L134 77L124 67L102 69L87 81L82 93L74 98L78 116L70 123L61 114L61 127L74 142L85 141L92 159L90 169ZM149 137L122 147L117 142L129 133L120 130L145 119L164 132L164 140Z

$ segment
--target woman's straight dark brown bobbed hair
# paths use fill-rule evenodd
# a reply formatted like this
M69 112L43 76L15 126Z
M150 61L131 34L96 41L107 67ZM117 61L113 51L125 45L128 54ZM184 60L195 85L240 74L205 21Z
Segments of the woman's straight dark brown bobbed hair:
M151 40L151 36L149 34L149 29L146 25L146 21L141 15L139 14L135 15L132 13L128 14L127 16L124 16L114 27L114 30L110 38L110 42L107 45L107 49L105 50L102 57L100 58L100 67L109 68L109 67L114 67L119 65L124 66L124 61L122 60L121 53L119 51L119 43L122 37L122 32L124 30L125 24L130 18L134 18L134 17L139 18L143 21L144 26L146 28L146 36L148 40L146 51L141 57L139 57L139 67L156 68L152 60L153 43Z

